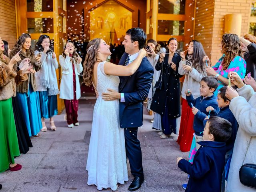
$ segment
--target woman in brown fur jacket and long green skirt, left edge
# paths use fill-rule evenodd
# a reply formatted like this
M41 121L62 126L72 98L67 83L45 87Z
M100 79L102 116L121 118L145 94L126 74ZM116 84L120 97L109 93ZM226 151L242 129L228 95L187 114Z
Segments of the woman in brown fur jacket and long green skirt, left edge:
M35 73L29 67L28 59L20 64L20 71L13 70L14 64L20 61L19 54L11 60L2 54L4 42L0 37L0 172L8 169L18 171L22 168L14 162L20 155L17 132L12 110L12 97L16 96L16 85L28 79L28 73Z

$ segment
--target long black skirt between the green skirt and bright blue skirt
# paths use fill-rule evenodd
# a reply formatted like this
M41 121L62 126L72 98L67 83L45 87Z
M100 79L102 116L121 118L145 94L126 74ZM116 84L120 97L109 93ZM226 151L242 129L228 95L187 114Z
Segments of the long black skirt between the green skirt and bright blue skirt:
M24 119L22 118L22 111L20 110L19 103L16 97L12 98L12 107L14 113L14 120L16 124L16 131L18 136L20 153L26 154L29 151L29 147L32 147L28 129Z

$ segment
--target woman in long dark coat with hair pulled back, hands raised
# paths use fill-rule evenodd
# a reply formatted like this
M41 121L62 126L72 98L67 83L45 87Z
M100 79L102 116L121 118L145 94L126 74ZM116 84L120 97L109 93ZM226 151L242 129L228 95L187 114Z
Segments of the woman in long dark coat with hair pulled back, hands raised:
M158 132L161 139L176 134L176 118L180 117L180 77L178 74L180 54L177 52L178 41L170 38L167 43L168 53L161 53L156 64L156 70L161 71L158 82L162 86L155 86L155 94L151 109L160 115L162 131ZM157 117L156 116L156 117Z

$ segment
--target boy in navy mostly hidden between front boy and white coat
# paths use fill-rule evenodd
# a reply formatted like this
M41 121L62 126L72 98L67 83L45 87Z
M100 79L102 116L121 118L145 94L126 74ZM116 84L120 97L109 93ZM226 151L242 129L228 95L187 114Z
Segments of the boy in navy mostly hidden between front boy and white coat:
M211 116L216 115L218 117L224 118L232 124L232 135L230 139L226 142L225 169L222 174L222 192L225 191L225 172L226 172L226 175L228 175L228 170L229 170L229 164L227 164L227 162L228 162L228 159L231 158L233 148L234 148L234 143L236 140L236 133L238 130L238 124L237 124L236 118L234 117L233 113L229 109L230 100L226 98L226 95L225 95L226 90L227 90L227 86L224 86L220 88L220 90L218 91L217 102L220 108L219 113L217 113L217 110L214 109L212 106L209 106L208 108L206 108L206 111L210 112Z

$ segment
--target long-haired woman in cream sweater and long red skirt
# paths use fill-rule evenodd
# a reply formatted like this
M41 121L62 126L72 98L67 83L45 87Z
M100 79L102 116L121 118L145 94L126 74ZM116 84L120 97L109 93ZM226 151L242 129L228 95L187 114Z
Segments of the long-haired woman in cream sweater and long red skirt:
M182 110L180 131L178 136L178 144L182 152L188 152L193 140L193 121L194 114L192 113L192 106L188 105L186 100L186 90L191 90L194 99L200 97L200 82L206 75L206 63L204 59L206 53L201 42L192 40L189 42L188 52L185 55L184 52L180 53L182 60L178 72L181 75L185 75L181 96L182 96Z

